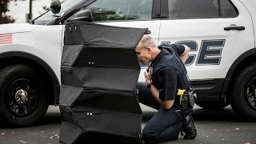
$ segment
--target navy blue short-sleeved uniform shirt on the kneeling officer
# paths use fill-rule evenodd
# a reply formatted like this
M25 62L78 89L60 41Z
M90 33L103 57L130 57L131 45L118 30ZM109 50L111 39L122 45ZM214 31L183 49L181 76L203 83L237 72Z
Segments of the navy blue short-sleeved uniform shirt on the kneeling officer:
M174 51L181 55L185 47L180 44L158 46L161 52L150 66L153 67L152 82L159 90L162 100L174 100L178 89L189 89L186 70ZM172 50L174 51L172 51Z

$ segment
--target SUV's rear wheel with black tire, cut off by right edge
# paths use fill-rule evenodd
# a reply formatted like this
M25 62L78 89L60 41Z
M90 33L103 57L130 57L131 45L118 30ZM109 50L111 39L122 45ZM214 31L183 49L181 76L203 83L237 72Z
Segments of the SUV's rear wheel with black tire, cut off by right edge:
M256 122L256 63L237 74L230 94L234 112L248 122Z

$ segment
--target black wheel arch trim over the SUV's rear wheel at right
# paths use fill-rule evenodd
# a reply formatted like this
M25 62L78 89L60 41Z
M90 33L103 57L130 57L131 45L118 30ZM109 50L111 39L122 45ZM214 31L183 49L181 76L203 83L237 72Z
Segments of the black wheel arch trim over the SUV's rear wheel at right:
M241 54L230 66L228 73L226 74L225 81L222 86L222 94L226 94L230 90L230 83L232 83L233 79L235 78L236 74L244 67L255 63L256 57L256 48L247 50L245 53ZM228 97L228 95L226 94Z

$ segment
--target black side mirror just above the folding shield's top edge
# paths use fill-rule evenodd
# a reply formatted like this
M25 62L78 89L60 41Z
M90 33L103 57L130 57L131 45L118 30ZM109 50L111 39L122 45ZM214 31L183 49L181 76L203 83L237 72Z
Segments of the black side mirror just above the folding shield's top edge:
M93 15L91 14L91 10L80 10L76 14L74 14L74 18L67 20L67 22L72 21L82 21L82 22L92 22Z

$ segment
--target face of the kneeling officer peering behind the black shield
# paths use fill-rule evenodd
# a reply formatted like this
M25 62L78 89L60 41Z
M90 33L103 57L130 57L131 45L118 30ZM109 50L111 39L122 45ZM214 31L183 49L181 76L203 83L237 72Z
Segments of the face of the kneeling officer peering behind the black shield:
M138 57L138 61L142 62L143 65L146 65L150 62L150 54L147 49L142 48L139 44L136 47L136 54Z

